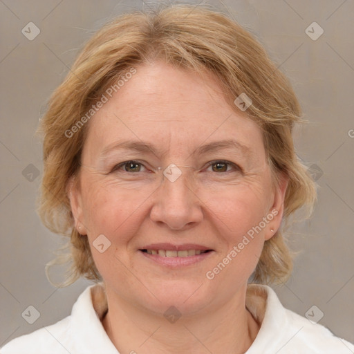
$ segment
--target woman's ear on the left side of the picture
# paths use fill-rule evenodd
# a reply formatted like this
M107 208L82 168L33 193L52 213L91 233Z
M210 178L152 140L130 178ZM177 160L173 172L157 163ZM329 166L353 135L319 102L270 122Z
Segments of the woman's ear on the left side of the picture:
M74 216L75 228L79 234L86 235L87 230L84 226L84 213L82 207L82 194L80 191L80 183L77 182L76 176L71 176L68 180L68 185L66 186L66 193L71 205L71 212Z

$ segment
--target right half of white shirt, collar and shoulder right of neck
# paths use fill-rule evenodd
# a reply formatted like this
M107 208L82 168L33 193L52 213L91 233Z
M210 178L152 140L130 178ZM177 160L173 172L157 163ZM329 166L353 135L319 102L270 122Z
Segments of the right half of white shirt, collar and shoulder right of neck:
M252 284L249 310L261 328L248 354L351 354L354 345L328 328L284 308L269 286Z

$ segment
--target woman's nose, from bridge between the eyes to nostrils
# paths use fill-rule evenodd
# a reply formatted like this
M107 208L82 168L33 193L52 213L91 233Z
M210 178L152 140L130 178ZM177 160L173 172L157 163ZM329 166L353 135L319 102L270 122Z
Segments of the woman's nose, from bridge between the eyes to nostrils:
M189 174L193 167L174 166L173 173L168 174L171 170L166 169L162 176L150 218L155 223L164 223L171 230L185 230L203 220L203 203L198 197L196 184L190 183L193 179ZM180 176L176 178L176 174Z

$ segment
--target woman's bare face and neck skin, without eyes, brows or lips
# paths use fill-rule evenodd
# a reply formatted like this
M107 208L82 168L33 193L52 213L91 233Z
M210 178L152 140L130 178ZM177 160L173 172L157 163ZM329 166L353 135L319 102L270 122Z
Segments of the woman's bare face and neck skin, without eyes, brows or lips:
M245 309L247 282L265 239L272 236L270 228L277 229L281 223L286 183L277 192L272 188L257 124L232 111L222 95L214 92L213 100L209 100L211 91L207 90L213 81L205 86L206 77L163 63L137 69L90 121L80 189L71 197L75 219L90 230L90 245L99 234L111 241L111 247L102 254L91 248L106 287L109 312L103 319L104 328L121 353L244 353L259 330ZM134 104L136 97L139 106ZM180 97L185 97L183 105L178 104ZM158 109L150 109L157 104ZM231 114L232 119L221 124ZM157 115L160 124L155 123ZM105 147L118 138L137 137L169 154L162 158L122 153L115 155L110 165L100 165L99 156ZM197 147L228 138L252 147L252 164L245 167L226 150L201 160L187 160ZM173 183L155 175L147 178L145 171L131 173L138 175L133 177L109 173L111 165L127 160L145 161L155 168L169 163L195 168L181 167L183 174ZM206 172L204 167L212 160L239 162L244 174L234 171L220 176L226 173L210 167ZM163 177L162 170L158 173ZM215 279L206 279L205 273L274 208L279 214L272 222ZM184 269L162 268L139 251L143 245L157 242L199 243L214 253ZM182 313L174 324L163 317L171 305ZM222 342L216 340L221 337ZM138 347L142 342L145 344Z

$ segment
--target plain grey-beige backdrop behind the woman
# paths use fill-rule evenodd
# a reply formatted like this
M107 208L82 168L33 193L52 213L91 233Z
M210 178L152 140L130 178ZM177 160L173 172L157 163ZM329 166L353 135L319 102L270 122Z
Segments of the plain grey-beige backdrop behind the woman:
M324 313L320 324L354 342L354 2L209 3L257 36L290 77L310 121L296 129L295 145L315 174L319 200L313 218L292 227L292 249L301 252L290 281L275 290L300 315L316 305ZM61 239L35 213L42 165L34 134L83 42L115 15L143 6L140 0L0 0L0 346L69 315L90 284L56 290L46 279L44 265ZM30 21L41 31L32 41L21 33ZM315 41L305 32L313 21L324 29ZM39 176L28 175L37 170ZM30 305L40 313L34 324L21 317Z

